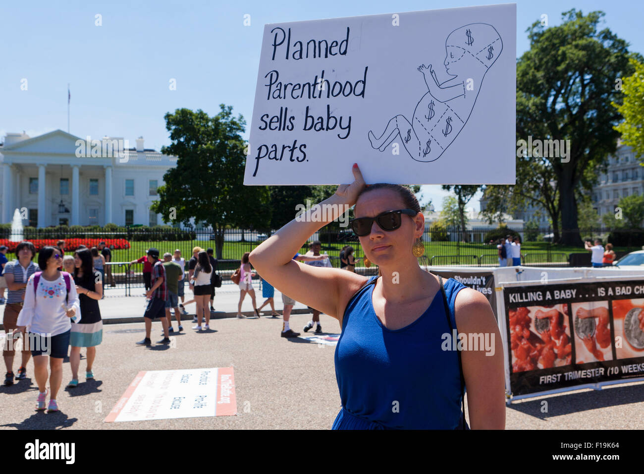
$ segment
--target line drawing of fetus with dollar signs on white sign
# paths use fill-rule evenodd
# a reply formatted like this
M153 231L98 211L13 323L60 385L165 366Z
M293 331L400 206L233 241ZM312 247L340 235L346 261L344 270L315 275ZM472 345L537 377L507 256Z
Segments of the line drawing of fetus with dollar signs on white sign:
M439 82L431 63L417 70L424 76L426 92L409 121L404 115L393 117L381 135L368 137L381 152L398 136L416 161L435 161L447 150L472 113L483 79L501 54L503 43L497 30L486 23L471 23L451 32L445 41L443 62L450 79Z

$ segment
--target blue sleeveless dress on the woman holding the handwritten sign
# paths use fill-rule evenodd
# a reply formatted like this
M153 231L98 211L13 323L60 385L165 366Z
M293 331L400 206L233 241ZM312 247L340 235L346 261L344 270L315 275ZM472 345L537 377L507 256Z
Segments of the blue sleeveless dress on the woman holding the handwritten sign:
M459 358L457 351L441 348L441 336L451 335L442 293L437 291L412 324L389 330L372 304L376 278L370 277L346 306L335 354L342 409L332 429L460 428ZM454 302L467 287L451 278L443 284L456 328Z

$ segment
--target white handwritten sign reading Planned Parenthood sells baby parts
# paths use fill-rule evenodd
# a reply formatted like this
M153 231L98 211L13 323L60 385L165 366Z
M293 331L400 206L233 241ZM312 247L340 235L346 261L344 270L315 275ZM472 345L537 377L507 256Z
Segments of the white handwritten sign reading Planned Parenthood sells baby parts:
M515 184L516 5L265 25L244 184Z

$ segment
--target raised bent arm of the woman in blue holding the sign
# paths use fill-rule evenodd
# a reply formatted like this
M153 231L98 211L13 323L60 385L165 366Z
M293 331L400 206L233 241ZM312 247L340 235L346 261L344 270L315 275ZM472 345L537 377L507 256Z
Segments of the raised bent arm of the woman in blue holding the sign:
M334 195L316 204L322 211L317 215L324 220L312 221L311 215L316 212L314 206L271 235L250 255L252 266L272 286L290 298L338 319L344 310L339 306L346 304L344 295L355 293L366 278L337 268L299 264L292 259L311 235L355 204L365 180L357 164L352 171L353 183L341 184Z

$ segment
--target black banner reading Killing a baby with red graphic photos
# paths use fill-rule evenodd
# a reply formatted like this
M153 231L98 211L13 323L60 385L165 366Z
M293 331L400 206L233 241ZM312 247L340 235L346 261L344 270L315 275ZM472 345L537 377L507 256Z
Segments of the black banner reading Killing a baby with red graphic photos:
M513 395L644 377L644 281L504 288Z

